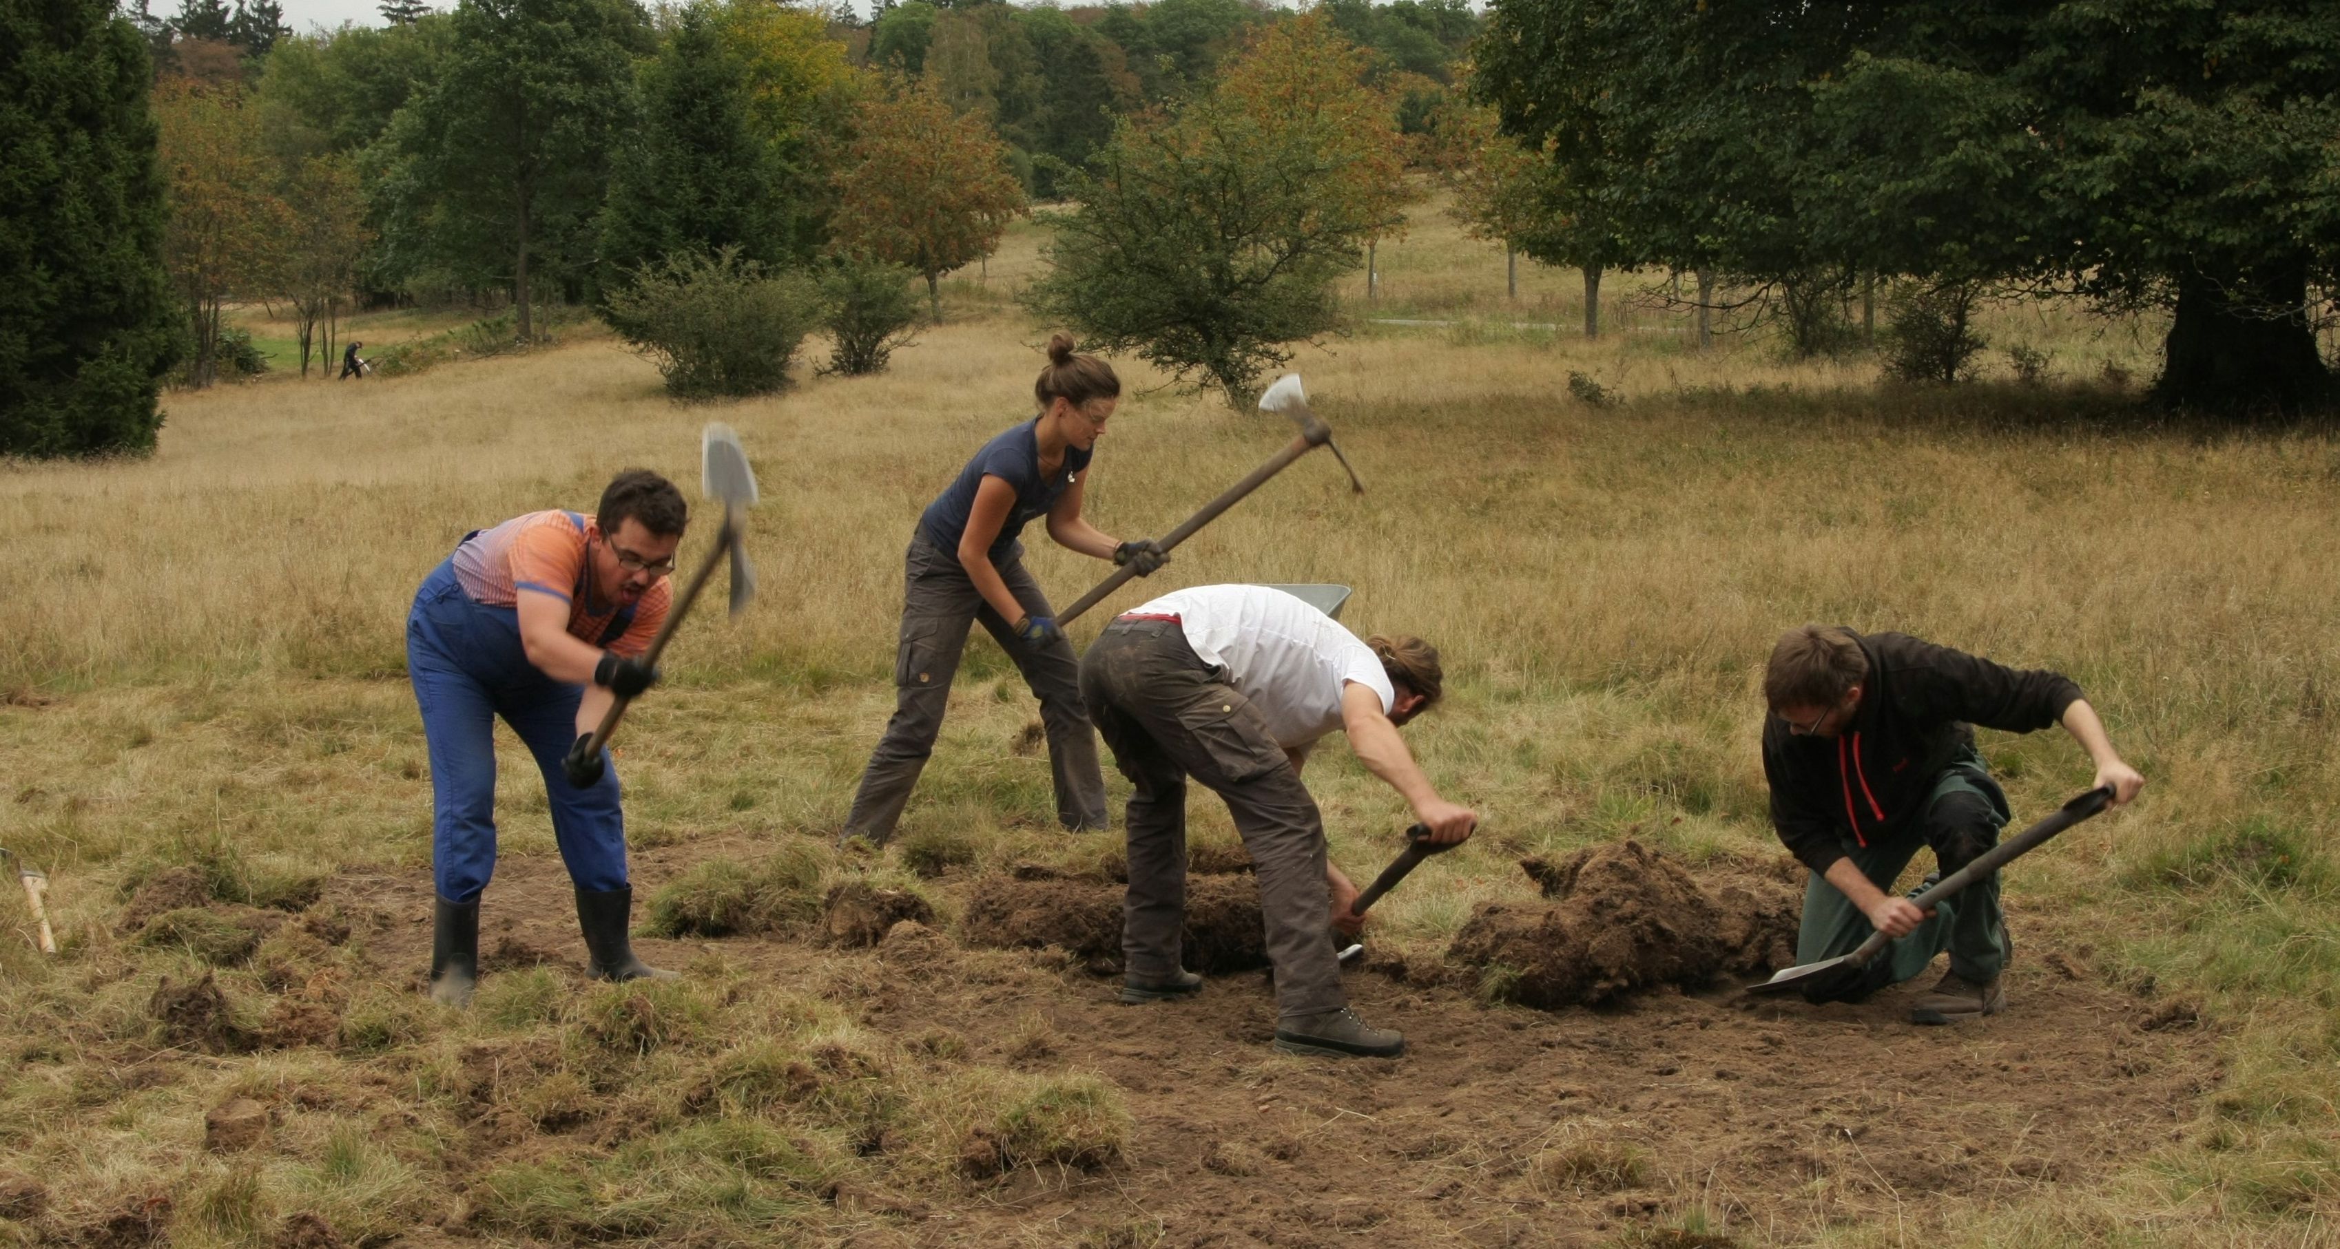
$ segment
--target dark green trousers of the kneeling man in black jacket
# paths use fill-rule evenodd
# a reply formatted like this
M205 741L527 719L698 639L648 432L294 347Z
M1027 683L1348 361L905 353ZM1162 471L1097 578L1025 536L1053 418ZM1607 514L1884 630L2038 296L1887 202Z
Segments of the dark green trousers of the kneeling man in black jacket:
M1982 765L1982 755L1968 751L1952 760L1942 777L1935 779L1933 793L1916 819L1905 821L1900 828L1872 833L1867 847L1846 844L1844 854L1877 889L1891 891L1919 849L1933 847L1935 865L1949 875L1998 844L1998 830L2005 826L2008 795ZM1870 917L1851 898L1839 893L1818 872L1811 872L1804 882L1804 924L1795 936L1797 964L1851 954L1874 931L1877 926L1870 924ZM1991 980L2008 966L2008 926L1998 910L1998 872L1942 900L1933 910L1933 919L1886 945L1886 952L1870 964L1872 975L1844 996L1860 999L1886 985L1912 980L1942 950L1949 950L1949 971L1968 980Z

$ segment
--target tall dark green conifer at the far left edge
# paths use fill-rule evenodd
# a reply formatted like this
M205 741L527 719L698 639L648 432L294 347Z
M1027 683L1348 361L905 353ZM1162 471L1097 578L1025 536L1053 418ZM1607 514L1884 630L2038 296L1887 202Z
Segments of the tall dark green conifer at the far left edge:
M0 454L147 451L178 358L145 37L0 2Z

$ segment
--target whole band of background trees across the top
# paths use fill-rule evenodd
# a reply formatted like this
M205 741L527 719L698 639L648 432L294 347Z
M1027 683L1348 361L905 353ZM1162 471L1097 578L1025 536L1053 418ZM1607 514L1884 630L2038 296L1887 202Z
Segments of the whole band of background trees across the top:
M290 306L307 370L351 302L508 302L526 341L548 297L620 323L629 283L704 283L707 309L625 306L667 309L634 330L721 325L709 309L777 309L758 283L800 274L861 299L831 318L882 363L887 274L938 316L938 278L1048 199L1069 203L1044 208L1027 304L1240 400L1336 327L1334 278L1402 229L1416 173L1474 234L1580 267L1589 334L1615 269L1696 276L1668 295L1701 344L1711 313L1762 313L1797 353L1891 290L1914 370L1954 379L1982 297L2080 295L2174 313L2164 402L2333 398L2340 9L2305 0L1495 0L1484 21L1462 0L899 0L861 23L391 0L386 28L311 35L274 0L0 14L23 49L0 51L0 143L26 171L0 215L51 222L0 232L28 278L0 283L12 325L54 327L0 337L5 398L47 395L7 405L19 454L150 444L152 379L232 365L229 299ZM77 178L70 206L42 192Z

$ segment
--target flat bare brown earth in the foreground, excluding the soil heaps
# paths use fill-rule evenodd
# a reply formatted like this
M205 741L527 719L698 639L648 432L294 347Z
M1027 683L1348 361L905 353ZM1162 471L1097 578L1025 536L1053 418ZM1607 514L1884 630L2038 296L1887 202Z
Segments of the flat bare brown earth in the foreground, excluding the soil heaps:
M716 844L636 856L648 896ZM370 940L419 987L428 877L351 875L330 891L393 922ZM1135 1116L1130 1162L1095 1176L1025 1169L950 1207L892 1202L849 1244L1072 1242L1161 1219L1161 1244L1577 1244L1636 1226L1804 1237L1830 1221L1930 1223L1945 1200L2087 1186L2153 1148L2216 1081L2190 1015L2073 978L2055 954L2010 971L2012 1010L1921 1029L1919 985L1860 1006L1748 1003L1652 989L1601 1010L1486 1008L1448 987L1348 975L1357 1010L1406 1034L1397 1062L1280 1060L1261 973L1200 999L1128 1008L1079 964L1025 982L936 975L952 952L728 938L641 940L660 966L716 947L735 966L828 992L896 1038L950 1029L971 1060L1090 1069ZM566 875L505 858L482 910L498 966L576 966ZM2064 971L2055 971L2064 968ZM1032 1041L1032 1015L1053 1041ZM1661 1240L1701 1244L1699 1237Z

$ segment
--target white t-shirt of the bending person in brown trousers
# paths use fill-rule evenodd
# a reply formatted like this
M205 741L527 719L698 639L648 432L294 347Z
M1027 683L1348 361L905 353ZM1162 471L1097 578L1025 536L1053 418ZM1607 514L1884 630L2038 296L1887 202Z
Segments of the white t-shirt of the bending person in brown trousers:
M1348 681L1374 690L1383 716L1397 704L1374 648L1282 589L1193 585L1130 613L1177 615L1196 657L1228 671L1228 685L1252 699L1287 751L1341 727L1341 685Z

